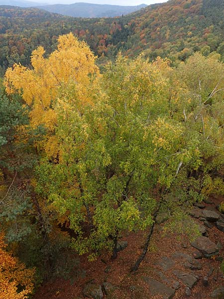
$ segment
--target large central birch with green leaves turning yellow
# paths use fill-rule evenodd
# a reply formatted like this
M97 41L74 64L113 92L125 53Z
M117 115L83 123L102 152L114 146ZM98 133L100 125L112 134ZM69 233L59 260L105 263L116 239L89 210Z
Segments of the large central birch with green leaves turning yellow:
M61 159L38 167L37 191L75 231L80 254L108 248L115 257L124 229L152 223L152 189L169 186L189 159L182 124L169 117L163 64L118 56L93 94L94 105L81 114L70 104L74 94L58 101Z

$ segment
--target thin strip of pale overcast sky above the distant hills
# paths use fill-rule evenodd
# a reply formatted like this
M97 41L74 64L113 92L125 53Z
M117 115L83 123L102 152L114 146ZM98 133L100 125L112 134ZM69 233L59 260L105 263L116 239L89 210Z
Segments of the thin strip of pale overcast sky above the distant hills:
M61 3L61 4L71 4L75 2L87 2L87 3L97 3L97 4L112 4L112 5L138 5L145 3L147 5L153 3L166 2L166 0L33 0L34 2L40 3Z

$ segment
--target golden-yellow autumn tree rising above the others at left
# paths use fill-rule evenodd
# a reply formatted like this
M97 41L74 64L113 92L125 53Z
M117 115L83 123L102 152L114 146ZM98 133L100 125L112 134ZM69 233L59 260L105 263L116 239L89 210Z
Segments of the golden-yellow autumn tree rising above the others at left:
M99 75L96 57L85 42L80 42L72 33L58 38L58 48L44 58L44 48L39 46L32 52L32 69L20 64L8 68L5 86L8 94L21 93L30 107L30 123L36 128L43 125L48 131L45 150L50 154L57 151L54 137L57 115L55 104L59 93L72 82L76 85L79 107L90 102L88 86Z

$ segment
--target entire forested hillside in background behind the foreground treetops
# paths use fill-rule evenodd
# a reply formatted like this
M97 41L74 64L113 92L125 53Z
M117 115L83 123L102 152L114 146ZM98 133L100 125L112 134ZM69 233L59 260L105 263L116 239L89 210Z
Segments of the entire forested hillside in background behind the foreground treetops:
M170 0L120 18L72 18L36 8L0 8L1 73L14 62L28 65L32 50L42 45L49 54L60 34L70 31L84 39L99 63L118 51L135 57L168 57L174 63L194 52L224 55L224 1ZM10 17L10 19L8 18Z

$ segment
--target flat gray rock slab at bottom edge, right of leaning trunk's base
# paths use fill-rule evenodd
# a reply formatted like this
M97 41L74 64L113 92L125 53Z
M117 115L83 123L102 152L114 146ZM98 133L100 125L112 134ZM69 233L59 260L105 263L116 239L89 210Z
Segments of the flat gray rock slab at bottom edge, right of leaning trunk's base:
M166 285L157 282L156 280L150 277L143 277L144 282L149 286L149 292L151 296L161 296L163 299L171 299L174 294L175 290L172 288L168 288Z

